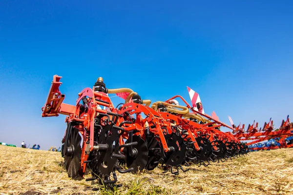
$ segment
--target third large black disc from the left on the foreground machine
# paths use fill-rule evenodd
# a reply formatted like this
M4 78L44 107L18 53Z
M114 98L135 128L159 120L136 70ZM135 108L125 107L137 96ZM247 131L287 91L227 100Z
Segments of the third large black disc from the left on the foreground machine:
M132 146L132 150L136 150L135 156L129 156L128 148L124 148L123 153L126 156L126 165L128 168L133 168L133 172L144 170L147 163L148 149L146 142L139 136L132 136L132 142L137 141L137 145ZM129 143L129 139L125 143Z

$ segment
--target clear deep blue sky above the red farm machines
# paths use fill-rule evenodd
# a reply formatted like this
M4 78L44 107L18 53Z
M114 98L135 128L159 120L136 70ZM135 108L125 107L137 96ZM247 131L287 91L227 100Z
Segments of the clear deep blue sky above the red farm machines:
M53 75L65 103L103 77L142 98L187 87L205 112L248 126L293 119L293 2L0 0L0 142L61 146L41 117ZM115 104L122 99L113 98Z

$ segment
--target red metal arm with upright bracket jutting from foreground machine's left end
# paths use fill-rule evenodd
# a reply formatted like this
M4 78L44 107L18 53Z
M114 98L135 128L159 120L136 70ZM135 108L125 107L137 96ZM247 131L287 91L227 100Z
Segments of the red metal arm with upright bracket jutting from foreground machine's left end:
M53 76L52 85L48 94L47 101L42 107L42 117L57 117L59 114L70 115L74 114L75 106L62 103L65 95L59 91L62 84L58 75Z

